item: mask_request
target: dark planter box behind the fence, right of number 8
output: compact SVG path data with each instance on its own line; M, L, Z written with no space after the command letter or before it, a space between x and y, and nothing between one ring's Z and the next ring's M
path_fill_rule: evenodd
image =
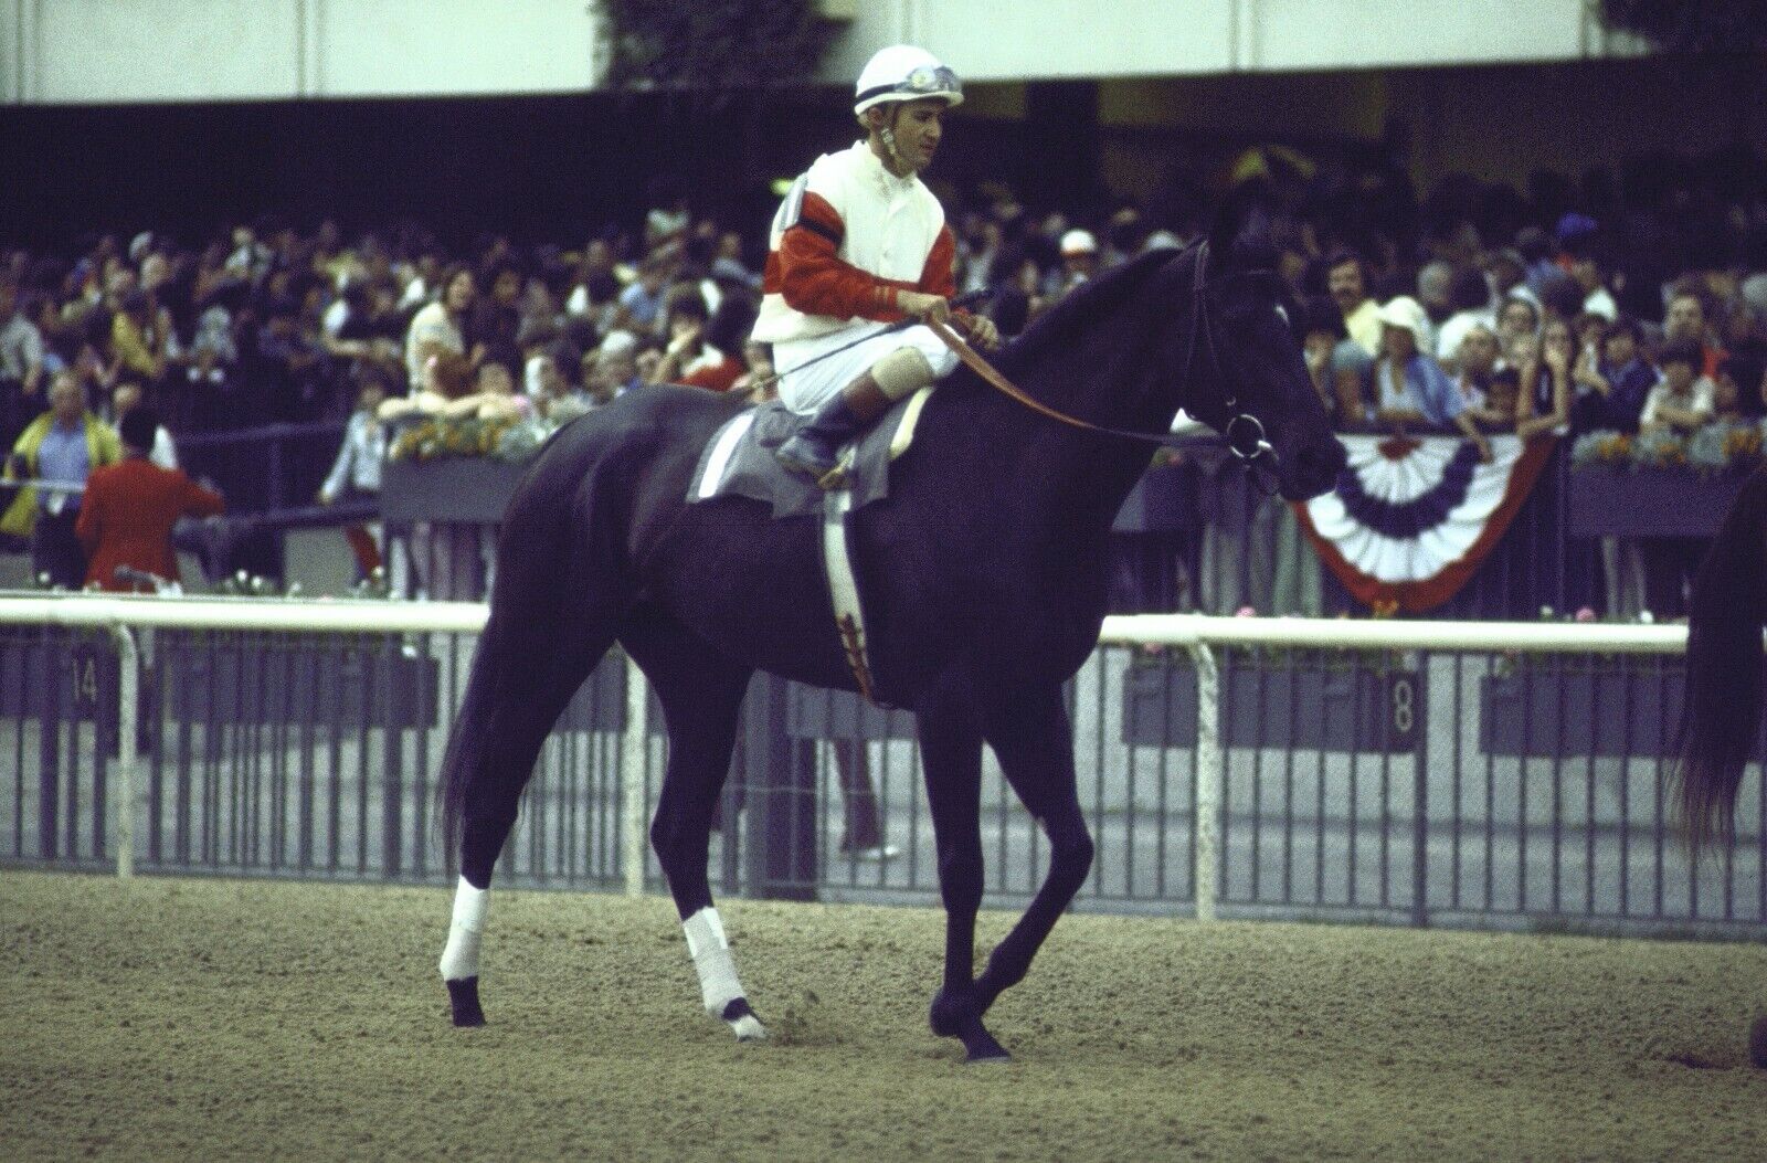
M1479 746L1505 756L1659 756L1675 748L1687 672L1528 666L1479 682Z

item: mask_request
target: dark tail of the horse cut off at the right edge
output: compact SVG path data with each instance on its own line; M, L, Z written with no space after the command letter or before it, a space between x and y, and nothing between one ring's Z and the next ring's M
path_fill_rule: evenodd
M1675 802L1693 859L1735 836L1737 787L1762 719L1762 622L1767 620L1767 472L1725 516L1693 582L1687 691Z

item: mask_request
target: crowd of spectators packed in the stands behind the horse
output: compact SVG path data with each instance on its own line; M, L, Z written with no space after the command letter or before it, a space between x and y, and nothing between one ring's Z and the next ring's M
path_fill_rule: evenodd
M1336 422L1458 431L1486 451L1498 431L1687 431L1767 414L1767 187L1737 170L1537 175L1528 196L1456 177L1426 200L1396 166L1237 173L1272 214ZM1060 210L998 184L942 193L958 286L1005 336L1205 219L1194 198ZM55 382L106 422L145 399L168 437L343 422L364 392L385 401L383 421L558 421L663 380L765 394L769 355L747 343L760 226L682 200L629 233L537 246L449 249L410 224L346 237L334 221L265 217L207 239L0 249L0 438L11 447L48 410ZM359 452L378 438L352 437ZM371 472L352 474L350 488L371 488ZM322 500L343 490L329 481Z

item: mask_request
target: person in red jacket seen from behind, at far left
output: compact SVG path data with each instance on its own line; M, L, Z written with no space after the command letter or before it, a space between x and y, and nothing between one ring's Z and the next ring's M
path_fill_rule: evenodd
M106 590L133 592L150 587L118 580L117 567L127 566L177 582L173 523L180 516L216 516L223 502L182 470L161 468L148 460L159 429L159 417L152 408L131 408L118 428L124 460L87 477L87 498L80 507L76 532L92 562L87 567L87 585L97 582Z

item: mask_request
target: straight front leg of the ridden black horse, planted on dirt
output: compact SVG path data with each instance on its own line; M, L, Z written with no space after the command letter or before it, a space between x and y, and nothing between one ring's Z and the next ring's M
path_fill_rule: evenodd
M945 903L945 983L933 995L931 1025L956 1038L970 1062L1007 1052L982 1027L975 997L975 912L982 903L982 732L967 680L947 679L919 705L921 765L938 847Z

